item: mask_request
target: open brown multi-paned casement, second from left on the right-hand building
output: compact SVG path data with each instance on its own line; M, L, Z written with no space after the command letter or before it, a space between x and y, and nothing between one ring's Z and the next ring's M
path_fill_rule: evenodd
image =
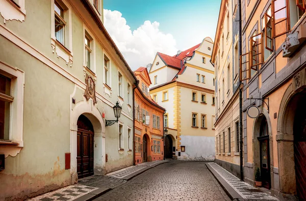
M250 68L258 70L258 65L264 61L263 33L256 34L250 38Z

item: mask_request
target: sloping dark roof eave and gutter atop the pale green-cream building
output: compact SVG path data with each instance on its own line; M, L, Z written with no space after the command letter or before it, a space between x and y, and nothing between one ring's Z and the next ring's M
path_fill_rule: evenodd
M93 18L93 20L96 22L98 28L102 31L102 33L105 35L106 39L111 43L112 47L115 49L117 55L119 56L119 58L122 60L123 64L125 65L125 67L127 68L127 70L130 71L132 77L135 79L135 83L137 82L137 78L135 76L135 74L133 73L132 69L130 68L129 64L127 64L127 62L125 61L123 55L121 54L121 52L119 51L117 45L115 44L115 42L113 41L112 37L109 35L109 33L107 32L107 30L104 27L104 24L102 23L100 17L96 14L96 12L94 11L93 6L91 5L91 3L89 2L89 0L80 0L82 2L82 4L84 5L84 7L86 8L86 10L89 12L89 14L91 15L91 17Z

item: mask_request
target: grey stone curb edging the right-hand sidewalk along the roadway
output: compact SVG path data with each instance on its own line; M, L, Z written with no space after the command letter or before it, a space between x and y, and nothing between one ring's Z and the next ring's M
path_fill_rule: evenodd
M224 191L227 193L227 195L232 199L232 200L244 200L241 195L232 187L230 184L228 184L221 176L214 170L209 163L205 164L209 171L214 175L216 180L219 182L219 184L222 186Z

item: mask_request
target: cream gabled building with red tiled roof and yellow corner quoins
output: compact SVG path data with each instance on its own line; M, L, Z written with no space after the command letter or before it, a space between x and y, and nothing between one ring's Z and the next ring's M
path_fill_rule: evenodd
M166 109L165 157L214 159L213 41L205 38L175 56L157 53L149 71L150 95Z

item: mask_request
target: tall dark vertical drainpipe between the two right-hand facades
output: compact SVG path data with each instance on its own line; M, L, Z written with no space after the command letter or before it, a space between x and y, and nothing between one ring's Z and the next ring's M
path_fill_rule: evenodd
M241 0L238 0L238 10L239 10L239 56L242 55L242 18L241 18ZM240 58L240 57L239 57ZM240 66L241 68L242 66ZM240 73L239 73L239 138L240 138L240 180L243 181L243 156L242 156L242 90L243 83L240 82Z

